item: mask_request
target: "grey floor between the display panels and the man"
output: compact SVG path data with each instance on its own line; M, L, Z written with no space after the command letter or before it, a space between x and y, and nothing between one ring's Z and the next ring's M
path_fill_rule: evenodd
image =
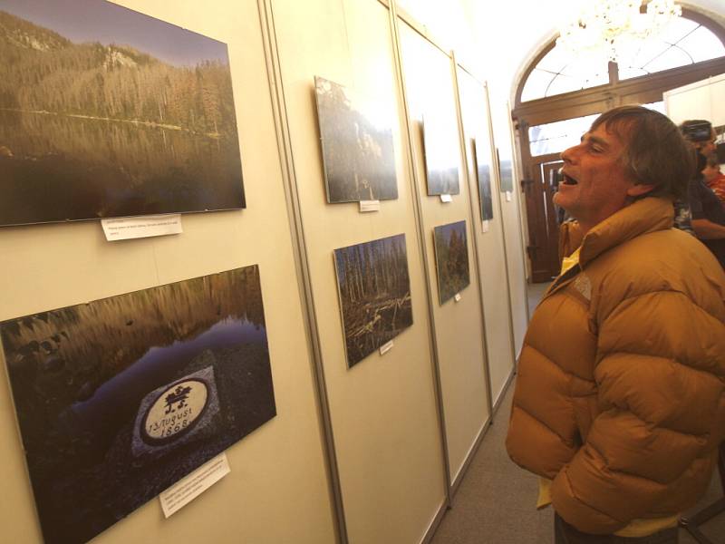
M529 306L536 306L546 287L533 286ZM553 511L535 508L536 476L510 461L504 447L513 388L511 384L504 394L431 544L553 544ZM713 477L707 494L691 511L701 510L721 496L720 481ZM701 530L714 544L725 544L725 513ZM680 544L696 542L680 529Z

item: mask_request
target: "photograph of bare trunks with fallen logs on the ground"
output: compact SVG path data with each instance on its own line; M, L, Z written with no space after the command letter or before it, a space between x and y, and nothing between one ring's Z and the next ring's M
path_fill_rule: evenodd
M413 324L405 235L334 250L347 365Z

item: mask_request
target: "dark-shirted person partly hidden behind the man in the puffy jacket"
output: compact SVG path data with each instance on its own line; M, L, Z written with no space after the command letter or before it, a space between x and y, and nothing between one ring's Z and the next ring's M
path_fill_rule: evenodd
M707 162L705 157L715 151L715 131L710 121L703 119L684 121L680 130L685 140L697 151L697 165L691 173L688 186L692 230L718 258L720 266L725 268L725 209L702 176Z

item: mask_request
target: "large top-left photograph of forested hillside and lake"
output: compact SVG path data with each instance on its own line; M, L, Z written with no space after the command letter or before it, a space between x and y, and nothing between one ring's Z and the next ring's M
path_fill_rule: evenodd
M0 226L244 207L226 44L103 0L0 0Z

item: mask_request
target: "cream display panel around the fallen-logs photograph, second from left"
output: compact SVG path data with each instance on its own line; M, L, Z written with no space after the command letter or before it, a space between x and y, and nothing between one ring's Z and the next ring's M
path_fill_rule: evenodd
M370 0L279 0L273 11L347 538L419 542L446 499L446 481L389 13ZM327 203L315 76L391 115L399 194L375 213ZM391 351L348 368L333 250L399 234L413 324Z

